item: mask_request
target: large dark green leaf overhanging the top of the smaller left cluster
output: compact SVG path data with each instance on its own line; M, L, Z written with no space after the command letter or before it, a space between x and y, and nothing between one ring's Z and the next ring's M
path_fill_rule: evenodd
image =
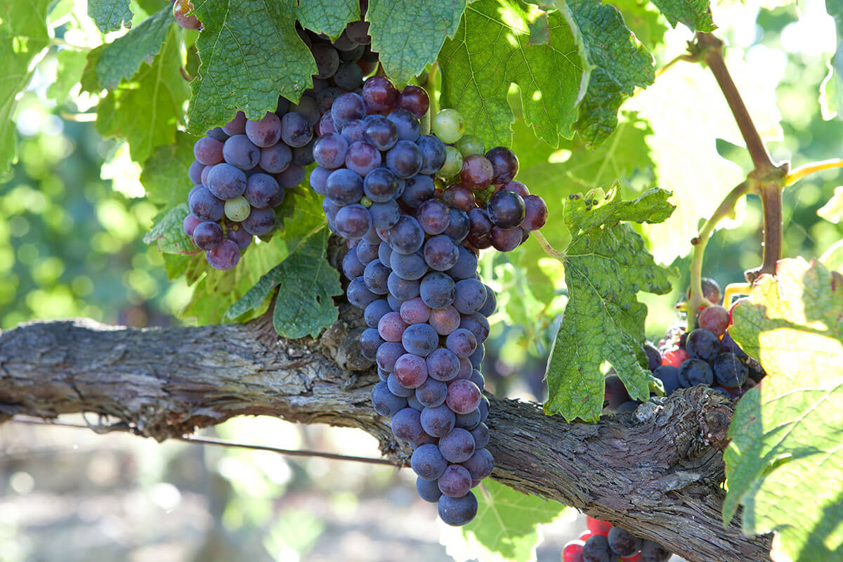
M200 0L194 6L204 26L188 110L194 134L224 125L237 110L261 119L276 110L278 96L298 102L313 84L316 62L296 33L292 5Z

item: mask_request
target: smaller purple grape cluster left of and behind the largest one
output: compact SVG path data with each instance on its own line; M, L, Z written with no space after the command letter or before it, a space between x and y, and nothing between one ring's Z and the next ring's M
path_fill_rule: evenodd
M365 32L354 31L359 24L349 25L351 36L368 42ZM323 111L346 91L360 88L364 70L371 71L368 45L353 42L347 31L331 44L299 29L319 70L314 88L298 104L279 98L277 109L260 120L238 111L225 126L196 141L189 170L195 186L188 195L191 212L184 229L214 269L233 269L253 236L269 236L277 227L275 209L285 190L300 185L305 167L314 162L320 128L332 129Z

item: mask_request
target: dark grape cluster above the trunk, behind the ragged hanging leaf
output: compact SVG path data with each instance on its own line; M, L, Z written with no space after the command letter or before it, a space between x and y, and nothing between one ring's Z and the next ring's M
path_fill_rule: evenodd
M722 292L717 281L703 278L702 288L706 300L720 302ZM679 388L705 384L737 399L760 383L765 376L764 369L729 335L732 308L734 304L728 309L710 304L697 312L696 329L687 332L684 327L676 327L668 330L658 348L650 343L644 345L649 368L662 381L665 395ZM608 409L624 412L636 409L640 402L630 399L617 375L609 374L604 404Z

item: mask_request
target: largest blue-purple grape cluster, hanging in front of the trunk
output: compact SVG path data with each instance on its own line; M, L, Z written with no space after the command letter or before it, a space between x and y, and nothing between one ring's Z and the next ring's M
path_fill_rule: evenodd
M414 449L421 498L463 525L477 511L470 489L493 468L479 369L497 298L477 275L478 251L515 248L547 208L513 180L515 154L485 153L456 111L422 134L429 104L423 88L398 91L380 76L337 96L319 120L310 186L325 195L331 231L349 240L342 270L368 325L362 355L381 379L374 409Z

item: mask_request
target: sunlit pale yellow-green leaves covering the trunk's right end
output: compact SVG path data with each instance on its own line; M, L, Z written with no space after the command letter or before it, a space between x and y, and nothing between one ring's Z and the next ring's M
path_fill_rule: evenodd
M729 334L767 376L729 426L724 521L740 504L744 533L780 533L774 559L840 559L843 278L817 261L781 260L735 305L733 322Z

